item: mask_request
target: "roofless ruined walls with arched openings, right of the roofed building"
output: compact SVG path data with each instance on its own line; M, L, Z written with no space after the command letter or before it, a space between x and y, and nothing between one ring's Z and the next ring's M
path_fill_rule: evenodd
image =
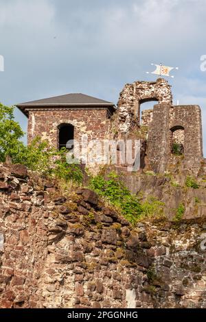
M140 105L157 101L150 111L146 154L149 169L163 173L171 162L171 129L184 131L183 166L198 173L203 160L201 108L196 105L173 106L171 86L165 79L156 82L126 84L120 92L117 108L119 137L133 136L140 128Z

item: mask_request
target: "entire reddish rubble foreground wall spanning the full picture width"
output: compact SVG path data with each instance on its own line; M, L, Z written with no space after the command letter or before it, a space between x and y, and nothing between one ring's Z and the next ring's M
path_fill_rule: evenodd
M91 190L1 165L1 308L205 308L205 223L134 230Z

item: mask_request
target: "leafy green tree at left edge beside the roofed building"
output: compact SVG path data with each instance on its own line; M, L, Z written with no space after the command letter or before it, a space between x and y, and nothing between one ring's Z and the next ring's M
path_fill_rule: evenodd
M23 135L21 126L14 121L14 107L0 103L0 162L4 162L7 156L10 156L13 162L16 161L16 157L24 149L20 140Z

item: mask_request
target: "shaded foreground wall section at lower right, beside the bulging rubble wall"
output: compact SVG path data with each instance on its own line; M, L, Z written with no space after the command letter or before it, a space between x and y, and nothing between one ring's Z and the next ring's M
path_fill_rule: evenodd
M206 308L205 223L196 220L139 227L152 245L146 251L153 264L144 288L154 307Z

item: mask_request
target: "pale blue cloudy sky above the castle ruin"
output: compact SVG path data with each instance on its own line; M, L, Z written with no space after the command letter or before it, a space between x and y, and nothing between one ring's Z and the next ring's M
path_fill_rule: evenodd
M124 84L157 78L151 63L179 66L165 78L174 105L201 106L206 155L205 16L206 0L0 0L0 101L82 92L117 103Z

